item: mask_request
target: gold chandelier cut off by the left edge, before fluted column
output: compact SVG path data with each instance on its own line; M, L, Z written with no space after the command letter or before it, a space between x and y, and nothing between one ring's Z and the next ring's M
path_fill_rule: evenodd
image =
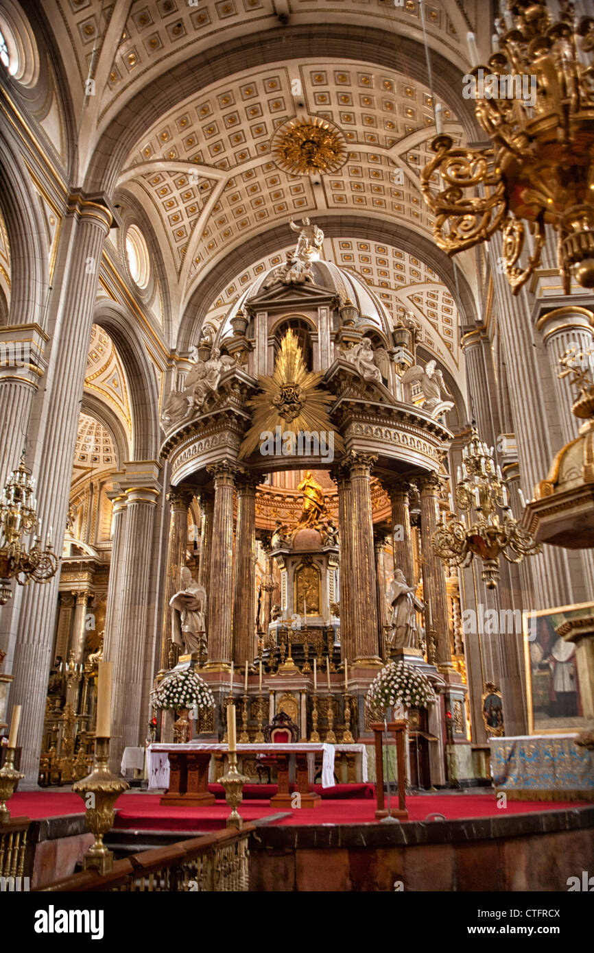
M41 521L37 518L37 500L33 497L35 481L21 456L16 471L9 480L0 498L0 605L6 605L12 592L10 579L16 578L19 585L33 582L49 582L58 568L58 560L51 552L51 527L46 548L41 549ZM24 537L34 532L30 549Z

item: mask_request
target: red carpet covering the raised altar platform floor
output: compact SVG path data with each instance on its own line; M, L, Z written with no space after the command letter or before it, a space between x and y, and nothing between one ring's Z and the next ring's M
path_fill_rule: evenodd
M256 785L254 785L256 786ZM264 788L267 785L257 785ZM341 785L346 786L346 785ZM373 785L357 785L371 788ZM214 785L218 788L220 785ZM326 789L326 790L332 790ZM221 801L212 807L162 807L160 795L137 792L123 794L115 803L115 827L136 830L218 830L225 826L229 807ZM576 807L584 801L507 801L505 813L523 814L530 811L563 810ZM411 821L425 821L430 814L443 814L448 821L461 818L501 817L502 810L492 794L428 794L406 799ZM246 821L256 821L279 813L289 817L275 821L279 824L345 824L374 823L375 800L362 798L324 799L318 807L281 812L268 801L244 801L239 813ZM13 818L31 819L82 814L84 804L76 794L63 791L23 791L10 798Z

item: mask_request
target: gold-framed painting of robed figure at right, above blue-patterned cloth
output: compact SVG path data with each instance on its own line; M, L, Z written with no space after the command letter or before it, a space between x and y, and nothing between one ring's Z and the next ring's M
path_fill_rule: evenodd
M571 619L594 614L594 602L522 613L528 731L531 735L582 731L584 717L575 642L563 639Z

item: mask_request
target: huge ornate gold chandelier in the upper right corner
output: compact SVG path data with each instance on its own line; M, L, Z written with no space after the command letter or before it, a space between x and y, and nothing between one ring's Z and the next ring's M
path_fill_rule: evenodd
M453 255L501 230L514 294L541 261L546 225L558 233L564 293L572 274L594 287L594 18L578 22L572 3L562 7L553 20L544 0L507 0L499 50L468 74L492 145L452 148L439 124L421 173L440 248Z

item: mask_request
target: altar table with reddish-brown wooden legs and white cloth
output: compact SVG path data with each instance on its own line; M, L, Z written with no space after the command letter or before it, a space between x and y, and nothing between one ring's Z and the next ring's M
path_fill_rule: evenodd
M334 781L335 750L359 754L362 760L361 774L367 780L367 749L364 744L237 744L237 754L275 755L278 763L278 791L271 798L273 806L291 806L293 796L289 791L289 758L295 757L297 768L297 791L302 807L315 807L319 795L310 791L313 781L314 756L322 753L322 787L332 787ZM149 788L168 788L161 801L166 804L213 804L215 795L208 790L208 772L211 756L216 752L228 753L227 744L215 741L190 741L187 744L154 743L148 748Z

